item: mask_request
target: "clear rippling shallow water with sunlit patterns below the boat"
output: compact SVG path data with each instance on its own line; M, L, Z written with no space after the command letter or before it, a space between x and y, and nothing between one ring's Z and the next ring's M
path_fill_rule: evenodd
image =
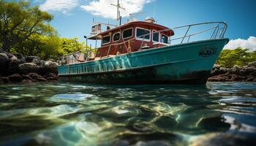
M0 145L254 145L256 84L0 85Z

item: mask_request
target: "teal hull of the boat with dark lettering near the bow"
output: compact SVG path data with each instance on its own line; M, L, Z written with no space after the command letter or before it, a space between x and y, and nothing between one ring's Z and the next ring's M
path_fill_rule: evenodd
M228 39L210 39L59 66L59 80L102 84L205 84Z

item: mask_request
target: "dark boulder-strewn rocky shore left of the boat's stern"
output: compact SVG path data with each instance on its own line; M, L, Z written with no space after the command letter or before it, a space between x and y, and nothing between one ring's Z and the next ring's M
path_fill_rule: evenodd
M42 61L37 56L24 57L7 53L0 48L0 83L7 82L56 82L58 64Z

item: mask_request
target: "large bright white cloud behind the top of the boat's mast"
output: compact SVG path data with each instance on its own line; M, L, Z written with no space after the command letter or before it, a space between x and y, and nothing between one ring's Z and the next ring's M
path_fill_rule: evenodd
M153 0L121 0L121 7L125 9L120 9L121 16L127 17L130 13L140 12L144 4L150 3L151 1ZM94 0L89 2L89 4L82 5L81 8L90 12L92 15L116 19L116 7L110 4L116 4L116 0Z

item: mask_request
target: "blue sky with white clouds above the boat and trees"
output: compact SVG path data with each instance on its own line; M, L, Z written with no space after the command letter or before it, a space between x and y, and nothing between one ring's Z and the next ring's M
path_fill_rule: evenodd
M116 24L116 0L29 0L54 16L50 22L60 37L89 36L94 21ZM123 22L129 13L143 12L138 20L154 17L157 23L173 28L190 23L224 21L226 48L256 50L256 0L121 0Z

